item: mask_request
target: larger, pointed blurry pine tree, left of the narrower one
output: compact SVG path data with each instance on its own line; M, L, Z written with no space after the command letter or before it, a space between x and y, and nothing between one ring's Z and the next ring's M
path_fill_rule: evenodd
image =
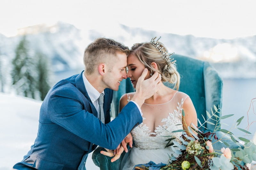
M35 99L35 61L29 56L28 41L25 36L15 49L15 57L12 60L12 64L12 85L14 85L17 93Z

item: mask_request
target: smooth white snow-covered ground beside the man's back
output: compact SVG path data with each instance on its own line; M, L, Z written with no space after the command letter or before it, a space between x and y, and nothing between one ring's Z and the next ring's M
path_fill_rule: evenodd
M34 143L42 101L0 93L0 170L11 170ZM89 154L86 168L99 170Z

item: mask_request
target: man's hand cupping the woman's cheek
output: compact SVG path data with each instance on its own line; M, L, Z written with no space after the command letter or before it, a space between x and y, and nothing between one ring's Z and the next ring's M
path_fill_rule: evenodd
M150 78L145 80L148 69L144 69L140 78L137 80L136 92L132 98L140 107L144 101L157 92L160 87L161 75L155 72Z

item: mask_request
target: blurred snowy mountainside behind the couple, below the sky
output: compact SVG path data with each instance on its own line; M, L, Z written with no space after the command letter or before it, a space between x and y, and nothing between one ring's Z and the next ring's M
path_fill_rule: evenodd
M19 35L15 37L0 35L2 60L10 61L14 57L14 49L23 35L27 36L32 51L41 51L51 60L52 71L56 75L62 71L79 73L83 69L84 49L98 37L112 38L131 47L136 42L162 36L161 41L170 52L207 60L223 78L256 78L256 35L213 39L160 33L120 24L112 25L111 28L78 30L73 25L58 22L52 26L42 24L20 29ZM10 62L6 64L9 66Z

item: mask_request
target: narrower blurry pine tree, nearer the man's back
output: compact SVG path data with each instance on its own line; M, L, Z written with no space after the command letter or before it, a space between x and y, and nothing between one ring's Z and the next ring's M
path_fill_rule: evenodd
M49 64L47 57L42 54L41 52L36 53L36 59L37 59L37 86L36 88L40 92L40 98L41 100L44 100L47 92L50 89L50 74L49 74Z

